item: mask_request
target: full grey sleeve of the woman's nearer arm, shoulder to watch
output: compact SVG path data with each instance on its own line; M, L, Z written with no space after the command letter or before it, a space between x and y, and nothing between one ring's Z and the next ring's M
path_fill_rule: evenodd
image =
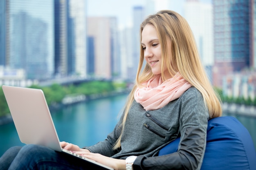
M209 112L198 91L181 96L180 134L177 152L157 156L137 157L134 170L200 170L204 157Z

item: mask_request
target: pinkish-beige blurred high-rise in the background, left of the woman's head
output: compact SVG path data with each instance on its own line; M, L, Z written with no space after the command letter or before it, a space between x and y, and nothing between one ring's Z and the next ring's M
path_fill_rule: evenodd
M117 18L88 17L88 59L90 75L111 79L120 73ZM93 44L92 44L93 43ZM93 71L94 70L94 71ZM114 76L115 75L115 76Z

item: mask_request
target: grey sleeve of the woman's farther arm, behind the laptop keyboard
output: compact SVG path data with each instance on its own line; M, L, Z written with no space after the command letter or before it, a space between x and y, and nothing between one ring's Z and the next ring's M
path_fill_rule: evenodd
M101 155L105 155L108 157L111 157L115 155L117 152L119 152L119 150L113 150L112 147L114 146L115 142L121 134L122 118L123 116L118 121L114 130L108 134L107 138L104 141L100 141L93 146L83 147L83 149L88 149L92 153L100 153Z

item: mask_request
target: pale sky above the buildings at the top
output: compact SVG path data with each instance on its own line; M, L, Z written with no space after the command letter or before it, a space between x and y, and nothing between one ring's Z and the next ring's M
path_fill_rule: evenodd
M155 11L165 9L168 2L173 5L173 11L182 15L182 6L186 0L87 0L88 16L117 17L119 26L129 26L132 22L132 8L145 6L146 3L155 1ZM198 0L203 3L211 3L212 0Z

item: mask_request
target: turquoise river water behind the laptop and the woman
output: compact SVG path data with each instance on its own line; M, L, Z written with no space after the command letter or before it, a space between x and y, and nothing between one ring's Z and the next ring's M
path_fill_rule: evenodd
M115 127L126 97L127 95L120 95L95 99L52 111L52 119L60 141L83 147L104 140ZM236 117L247 128L256 146L256 117L227 113L225 115ZM20 142L14 124L0 126L0 155L9 147L17 145L24 144Z

